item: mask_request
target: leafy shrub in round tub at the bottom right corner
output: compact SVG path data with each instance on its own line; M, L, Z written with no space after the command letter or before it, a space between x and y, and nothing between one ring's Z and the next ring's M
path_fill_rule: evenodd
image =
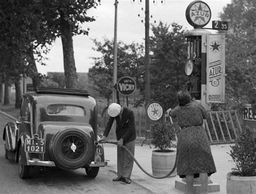
M246 126L234 146L230 146L230 156L235 168L227 174L227 194L256 193L255 138Z

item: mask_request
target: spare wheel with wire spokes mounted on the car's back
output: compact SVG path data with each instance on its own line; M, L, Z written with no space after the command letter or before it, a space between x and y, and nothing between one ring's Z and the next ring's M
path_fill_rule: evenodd
M92 156L92 145L93 141L86 132L68 128L53 136L50 155L59 168L82 168Z

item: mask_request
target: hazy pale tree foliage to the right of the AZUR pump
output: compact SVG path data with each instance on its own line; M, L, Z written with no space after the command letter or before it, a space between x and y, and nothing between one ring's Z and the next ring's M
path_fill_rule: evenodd
M228 21L226 34L226 107L242 109L255 103L256 2L232 0L220 14ZM255 85L254 85L255 87Z

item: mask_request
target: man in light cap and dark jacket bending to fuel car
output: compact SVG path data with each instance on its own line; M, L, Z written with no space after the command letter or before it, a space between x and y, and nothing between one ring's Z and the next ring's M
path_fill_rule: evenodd
M111 130L113 121L116 120L117 135L117 177L113 181L123 181L131 183L131 173L133 168L132 156L124 149L124 145L134 155L136 129L134 123L134 113L128 107L112 103L107 109L110 118L105 127L101 142L104 142Z

